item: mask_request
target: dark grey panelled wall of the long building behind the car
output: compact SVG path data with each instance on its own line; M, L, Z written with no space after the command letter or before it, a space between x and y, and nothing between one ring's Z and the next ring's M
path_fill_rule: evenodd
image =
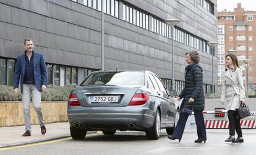
M43 53L48 63L100 69L101 12L79 2L0 0L0 57L17 57L23 51L23 39L32 38L35 49ZM216 0L211 2L214 15L193 0L127 0L120 4L129 4L161 20L181 19L178 28L205 41L216 41ZM170 79L171 39L124 21L119 13L119 18L105 14L105 69L150 70ZM174 41L175 80L184 80L184 54L188 50L196 49ZM211 85L211 55L198 52L203 83ZM215 85L216 70L214 56Z

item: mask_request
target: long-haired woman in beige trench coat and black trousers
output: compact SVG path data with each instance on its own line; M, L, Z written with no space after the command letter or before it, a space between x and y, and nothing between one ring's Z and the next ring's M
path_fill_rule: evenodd
M243 143L240 119L236 117L236 109L240 104L245 102L245 91L242 78L242 70L239 68L237 57L234 54L226 56L226 69L223 75L223 83L221 88L221 104L226 104L228 109L229 120L229 138L226 142ZM237 139L235 138L235 132Z

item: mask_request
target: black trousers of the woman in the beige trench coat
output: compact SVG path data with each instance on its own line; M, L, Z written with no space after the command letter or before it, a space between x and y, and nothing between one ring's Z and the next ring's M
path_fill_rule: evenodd
M237 136L242 137L242 130L240 126L240 120L236 117L236 111L228 111L228 120L229 120L229 135L234 136L234 131L236 130Z

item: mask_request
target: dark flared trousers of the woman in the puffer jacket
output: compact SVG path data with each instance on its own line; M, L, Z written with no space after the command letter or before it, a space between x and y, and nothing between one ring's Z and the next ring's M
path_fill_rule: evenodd
M206 136L206 130L205 130L205 120L203 119L202 112L194 112L195 114L195 124L197 125L197 136L200 140L207 140ZM177 122L176 128L174 129L173 135L175 138L178 138L181 140L182 135L184 133L184 129L187 122L187 117L189 117L189 114L185 112L181 112L179 114L179 120Z

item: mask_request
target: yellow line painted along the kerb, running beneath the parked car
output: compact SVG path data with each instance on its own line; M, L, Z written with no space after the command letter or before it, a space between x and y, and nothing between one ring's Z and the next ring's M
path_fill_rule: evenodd
M95 136L98 134L90 134L87 137L90 136ZM0 151L5 151L5 150L9 150L9 149L18 149L18 148L27 148L27 147L33 147L33 146L39 146L39 145L48 145L50 143L58 143L60 141L65 141L65 140L72 140L71 137L67 137L67 138L61 138L59 140L50 140L50 141L42 141L42 142L36 142L36 143L32 143L32 144L27 144L27 145L19 145L19 146L11 146L11 147L7 147L7 148L0 148Z

